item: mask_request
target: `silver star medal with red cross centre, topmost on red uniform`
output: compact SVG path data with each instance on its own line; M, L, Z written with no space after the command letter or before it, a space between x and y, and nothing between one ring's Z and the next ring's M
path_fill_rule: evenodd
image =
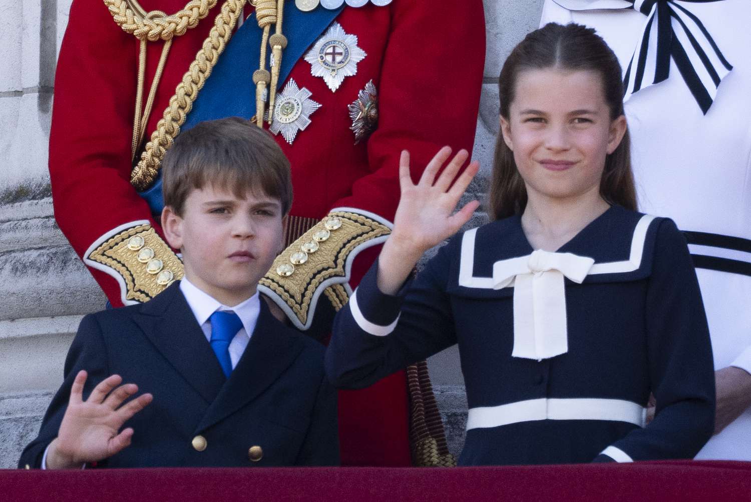
M323 77L328 88L336 91L344 77L357 74L357 63L365 56L365 51L357 47L357 36L345 33L342 25L334 21L305 55L305 60L310 63L313 77Z

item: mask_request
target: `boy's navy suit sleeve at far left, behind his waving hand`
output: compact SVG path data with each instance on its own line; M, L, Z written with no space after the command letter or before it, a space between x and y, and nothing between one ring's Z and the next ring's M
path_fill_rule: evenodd
M86 399L94 387L109 376L107 348L101 335L99 323L92 314L83 317L80 326L78 326L76 337L68 350L68 356L65 358L62 386L53 397L50 407L47 408L47 413L44 414L38 437L29 443L21 453L18 467L23 468L28 464L29 467L35 469L41 468L44 450L57 437L62 417L65 415L65 410L68 409L73 380L82 369L85 369L88 373L86 385L83 387L83 398ZM101 465L102 462L98 462L98 464Z

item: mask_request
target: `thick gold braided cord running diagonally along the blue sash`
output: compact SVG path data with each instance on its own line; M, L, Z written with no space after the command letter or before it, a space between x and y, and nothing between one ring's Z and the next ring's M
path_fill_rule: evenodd
M131 172L131 185L138 191L144 191L152 185L161 166L164 153L172 146L172 142L179 134L180 126L185 123L198 92L209 78L219 55L232 36L237 18L243 14L246 0L226 0L222 10L216 16L214 26L204 41L203 47L195 56L188 71L177 84L175 94L170 98L170 104L164 110L162 118L156 125L156 131L151 135L146 149L141 154L140 161Z

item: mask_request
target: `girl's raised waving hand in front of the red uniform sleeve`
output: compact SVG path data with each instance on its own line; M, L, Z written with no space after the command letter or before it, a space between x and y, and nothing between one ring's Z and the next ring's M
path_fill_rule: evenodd
M422 254L457 233L480 205L477 200L472 200L453 214L460 197L477 174L479 163L471 162L454 181L469 157L466 150L460 150L436 179L436 174L450 156L451 148L444 146L440 149L415 185L409 174L409 152L402 152L399 163L402 195L394 215L394 230L379 257L378 286L383 293L397 293Z

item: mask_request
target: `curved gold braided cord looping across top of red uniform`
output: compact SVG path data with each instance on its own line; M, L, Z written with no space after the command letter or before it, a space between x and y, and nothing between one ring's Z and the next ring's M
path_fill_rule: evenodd
M162 11L147 13L137 0L104 0L115 23L139 40L167 41L184 35L207 17L216 0L191 0L179 12L167 15Z

